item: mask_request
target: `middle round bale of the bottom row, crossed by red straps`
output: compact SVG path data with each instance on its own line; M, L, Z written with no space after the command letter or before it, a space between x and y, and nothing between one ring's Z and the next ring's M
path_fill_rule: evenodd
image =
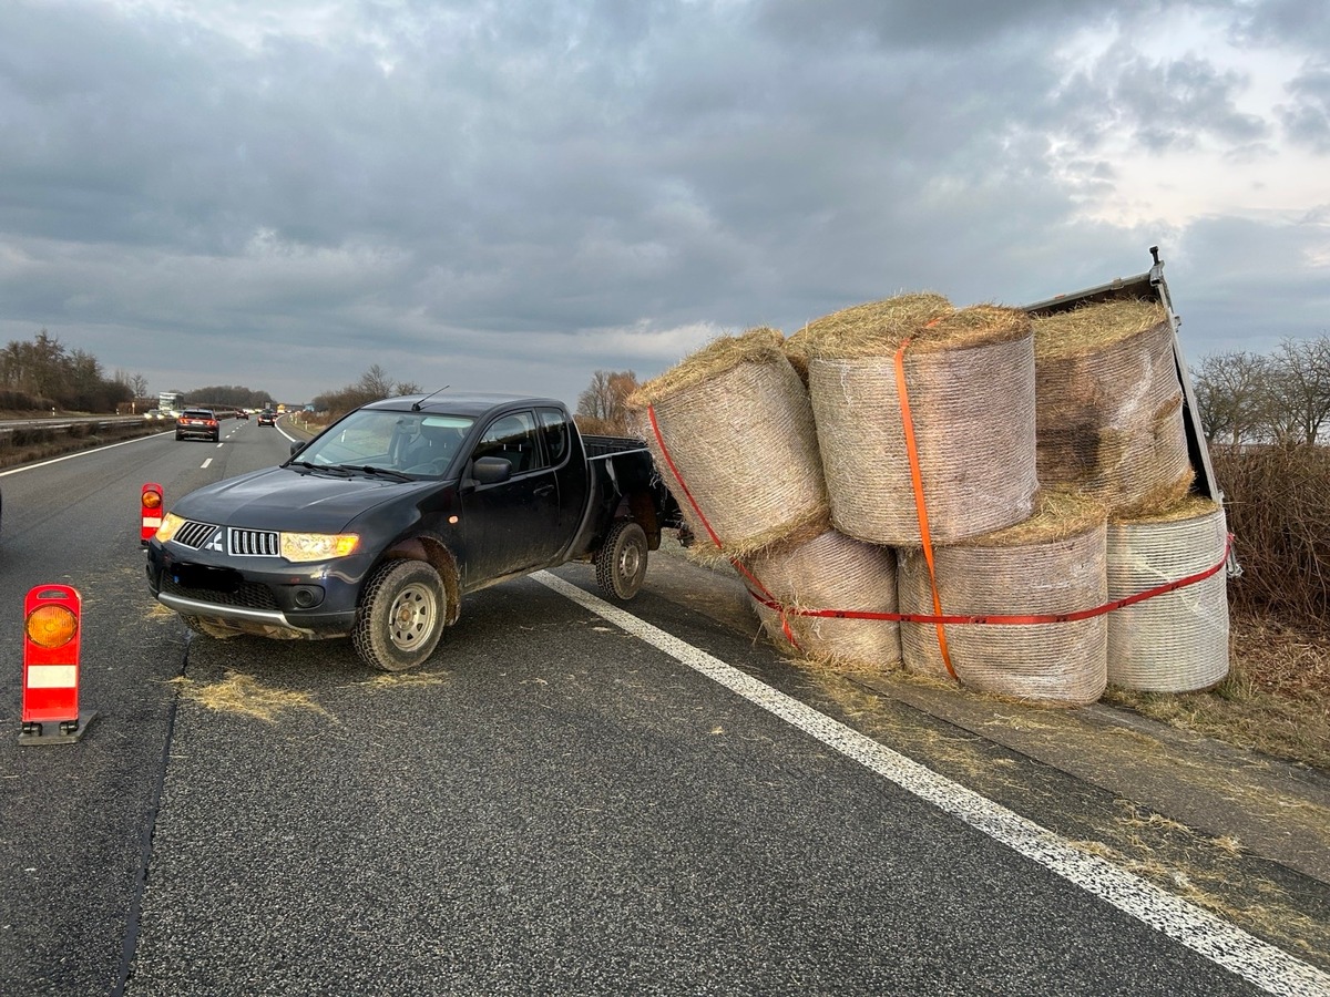
M1043 495L1035 516L984 537L936 548L943 615L1060 615L1108 602L1107 514L1097 502ZM922 550L899 553L900 611L934 615ZM1056 706L1092 703L1108 682L1108 618L1037 623L947 623L962 685ZM938 627L903 622L911 671L946 677Z

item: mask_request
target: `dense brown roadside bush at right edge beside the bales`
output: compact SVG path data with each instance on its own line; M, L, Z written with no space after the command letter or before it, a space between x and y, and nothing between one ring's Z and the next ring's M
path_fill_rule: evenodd
M1330 449L1216 447L1210 459L1242 565L1234 609L1330 635Z

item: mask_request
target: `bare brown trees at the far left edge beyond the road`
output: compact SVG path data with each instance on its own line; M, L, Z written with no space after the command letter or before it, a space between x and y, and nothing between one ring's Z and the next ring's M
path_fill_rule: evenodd
M12 340L0 351L0 408L114 412L144 388L142 376L117 371L108 378L96 356L66 350L47 330L32 342Z

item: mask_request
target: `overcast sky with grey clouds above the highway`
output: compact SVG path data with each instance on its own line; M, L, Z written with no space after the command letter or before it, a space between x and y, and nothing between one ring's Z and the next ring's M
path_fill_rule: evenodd
M0 0L0 344L575 404L900 291L1330 332L1323 0Z

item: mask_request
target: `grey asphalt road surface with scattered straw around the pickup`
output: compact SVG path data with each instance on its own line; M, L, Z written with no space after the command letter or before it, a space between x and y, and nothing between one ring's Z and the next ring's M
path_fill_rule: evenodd
M190 639L141 485L285 452L229 421L0 477L0 992L1330 993L1323 952L1085 848L1113 794L794 666L669 558L622 609L584 565L476 593L407 675ZM51 582L97 717L20 747Z

